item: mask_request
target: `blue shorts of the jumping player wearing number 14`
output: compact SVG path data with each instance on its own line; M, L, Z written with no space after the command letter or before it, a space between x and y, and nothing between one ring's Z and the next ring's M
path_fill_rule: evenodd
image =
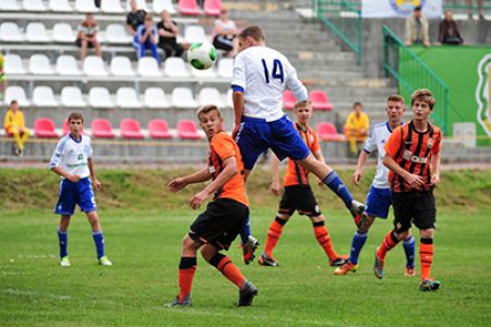
M254 168L259 156L267 148L271 148L279 160L287 157L303 160L310 154L294 123L286 116L271 122L260 118L242 117L236 143L239 145L247 170Z

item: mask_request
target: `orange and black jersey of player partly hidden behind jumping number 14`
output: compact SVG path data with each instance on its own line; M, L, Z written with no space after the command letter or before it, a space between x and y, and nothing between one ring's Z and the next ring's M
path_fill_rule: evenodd
M307 144L307 147L315 153L321 149L319 145L319 137L315 131L311 126L307 126L307 130L303 130L298 123L295 123L295 128L297 129L300 137ZM288 168L285 173L285 178L283 179L284 186L291 185L308 185L309 184L309 171L303 169L300 165L295 162L295 160L288 159Z

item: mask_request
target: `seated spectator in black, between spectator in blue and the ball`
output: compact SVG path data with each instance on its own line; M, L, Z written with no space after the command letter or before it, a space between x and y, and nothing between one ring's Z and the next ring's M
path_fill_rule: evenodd
M177 43L179 27L177 26L177 23L170 19L170 13L167 10L164 10L160 13L160 19L161 21L157 24L158 47L166 52L166 58L172 56L181 57L189 45Z

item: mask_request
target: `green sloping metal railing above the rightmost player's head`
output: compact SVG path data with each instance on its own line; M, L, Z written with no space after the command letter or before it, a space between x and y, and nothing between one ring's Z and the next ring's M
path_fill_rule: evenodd
M410 95L415 89L429 88L436 99L432 119L450 135L448 126L448 86L424 63L418 55L397 37L387 26L382 27L384 43L385 76L397 82L400 94Z

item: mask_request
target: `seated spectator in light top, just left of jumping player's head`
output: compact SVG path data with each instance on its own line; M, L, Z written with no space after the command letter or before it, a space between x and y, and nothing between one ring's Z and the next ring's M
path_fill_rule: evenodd
M227 51L227 57L237 53L238 44L236 36L239 34L236 22L227 19L227 10L221 9L219 19L215 21L213 28L213 45L215 48Z

